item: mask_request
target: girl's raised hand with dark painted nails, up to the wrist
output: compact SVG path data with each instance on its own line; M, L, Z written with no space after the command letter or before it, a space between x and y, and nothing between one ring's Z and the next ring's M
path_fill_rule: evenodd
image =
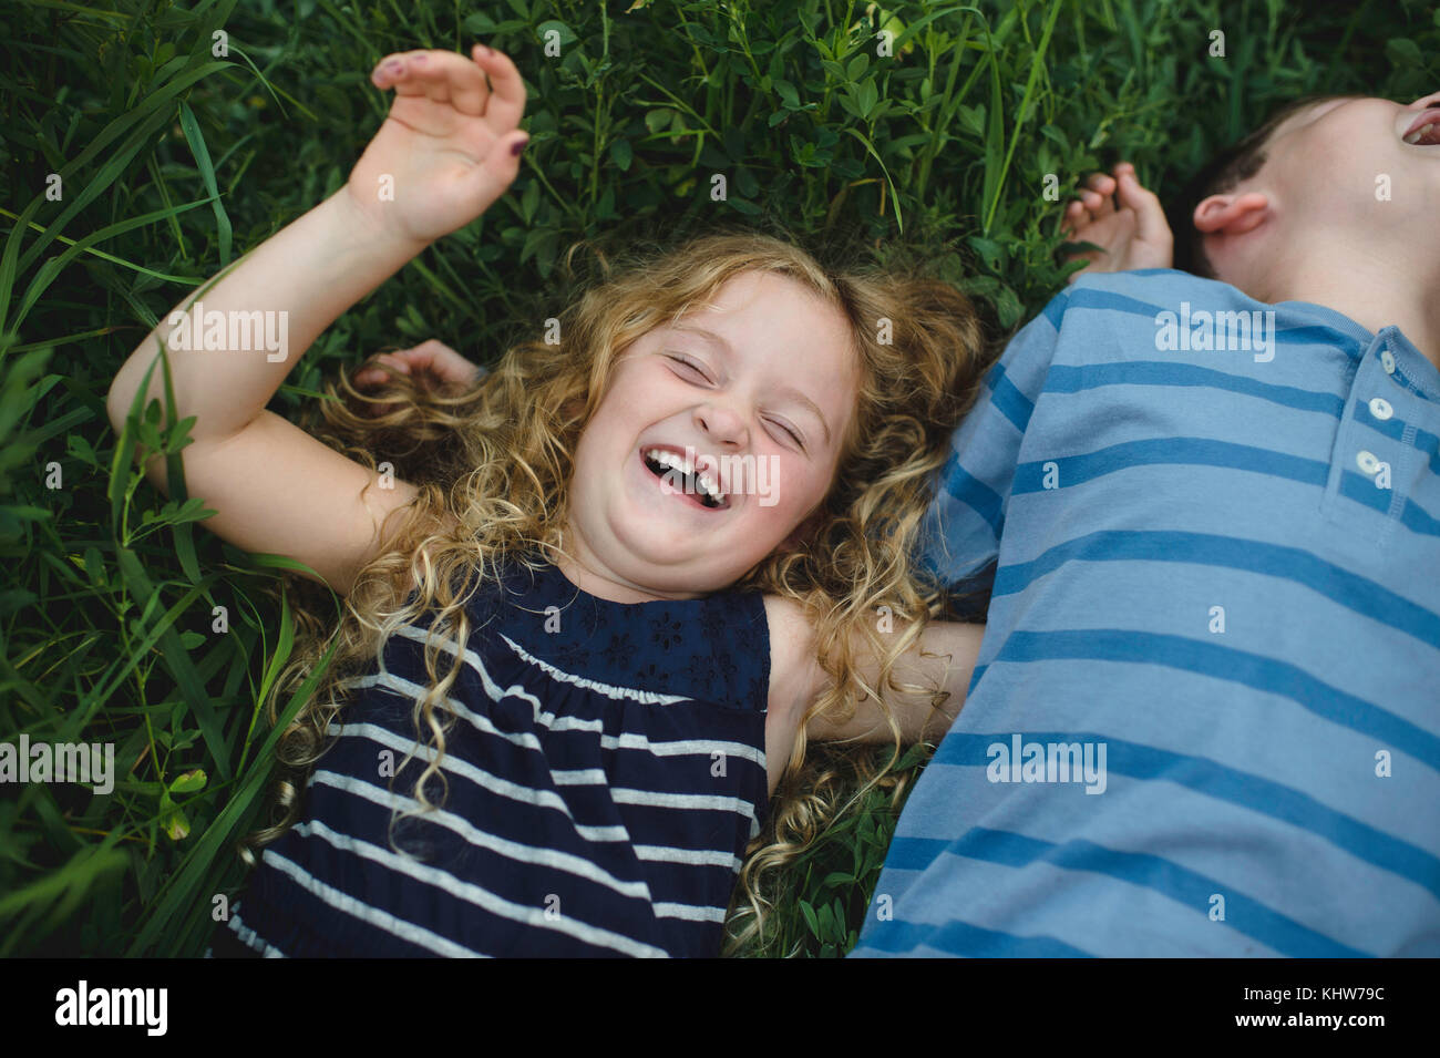
M428 243L464 227L520 171L530 138L518 128L520 72L482 45L472 56L400 52L370 73L377 88L395 88L395 102L346 187L366 216L406 240Z

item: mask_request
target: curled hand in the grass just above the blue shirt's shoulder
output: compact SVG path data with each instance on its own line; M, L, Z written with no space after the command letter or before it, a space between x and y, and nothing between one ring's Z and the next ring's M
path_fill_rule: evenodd
M1165 222L1165 210L1153 193L1140 187L1135 166L1122 161L1115 177L1096 173L1080 202L1066 207L1061 230L1074 242L1093 242L1103 249L1081 250L1068 256L1090 262L1068 278L1074 282L1086 272L1126 272L1132 268L1171 268L1175 238ZM1115 199L1119 199L1116 206Z

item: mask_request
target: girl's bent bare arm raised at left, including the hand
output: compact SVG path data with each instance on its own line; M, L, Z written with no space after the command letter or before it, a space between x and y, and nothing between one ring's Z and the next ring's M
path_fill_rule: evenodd
M164 337L177 415L196 416L181 452L186 487L217 511L204 525L242 550L305 563L341 594L379 546L386 517L416 489L380 487L265 404L341 312L504 193L527 138L517 128L520 73L491 49L477 45L474 62L436 50L389 56L372 81L393 86L396 99L348 183L194 304L177 305L120 369L107 402L120 432ZM163 393L157 366L145 403ZM164 459L141 458L164 491Z

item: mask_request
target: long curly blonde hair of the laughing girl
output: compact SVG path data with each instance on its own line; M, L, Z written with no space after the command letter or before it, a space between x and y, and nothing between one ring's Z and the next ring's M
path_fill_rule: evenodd
M572 246L567 266L577 248ZM325 423L312 433L372 469L373 453L383 453L419 495L392 514L397 524L386 525L383 550L359 571L338 626L333 596L321 597L320 586L297 579L285 583L302 633L272 688L272 724L282 695L304 684L327 652L334 656L281 736L284 773L272 787L272 825L242 842L246 864L253 865L255 851L298 818L304 776L344 708L348 677L373 668L390 632L422 615L433 615L425 648L431 689L415 704L413 720L433 753L413 797L418 812L433 808L426 783L435 777L445 787L441 759L454 723L439 702L462 656L446 651L452 664L442 672L436 639L469 638L465 602L503 563L536 551L552 560L569 556L567 482L576 443L605 396L616 358L746 272L786 276L838 309L861 370L851 426L814 530L778 547L730 590L791 599L808 615L829 687L805 720L821 714L842 723L868 697L884 704L860 671L860 643L880 661L878 687L930 694L936 707L943 702L937 688L900 684L891 669L926 620L942 613L940 586L914 567L913 553L950 432L979 387L984 338L971 302L913 266L873 262L835 271L791 239L756 232L714 232L670 250L632 249L624 266L612 266L600 252L596 258L602 275L557 317L560 341L517 343L467 392L426 392L393 371L377 393L359 392L348 371L340 374L340 392L327 383L328 399L320 403ZM376 403L390 410L374 415ZM880 638L881 606L904 629L900 635ZM888 774L900 753L900 727L888 708L884 714L894 751L878 763L873 751L842 751L806 767L801 724L785 777L740 871L727 951L765 939L776 874L848 806L877 783L888 783L896 797L901 793L903 783ZM395 820L392 844L393 826Z

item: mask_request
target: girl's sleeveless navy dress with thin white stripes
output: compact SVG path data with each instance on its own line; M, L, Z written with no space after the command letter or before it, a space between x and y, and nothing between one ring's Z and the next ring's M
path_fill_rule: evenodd
M403 763L428 619L351 681L301 822L264 849L215 954L720 953L768 808L762 596L615 603L513 564L468 607L448 799L395 829L415 855L387 829L431 759Z

